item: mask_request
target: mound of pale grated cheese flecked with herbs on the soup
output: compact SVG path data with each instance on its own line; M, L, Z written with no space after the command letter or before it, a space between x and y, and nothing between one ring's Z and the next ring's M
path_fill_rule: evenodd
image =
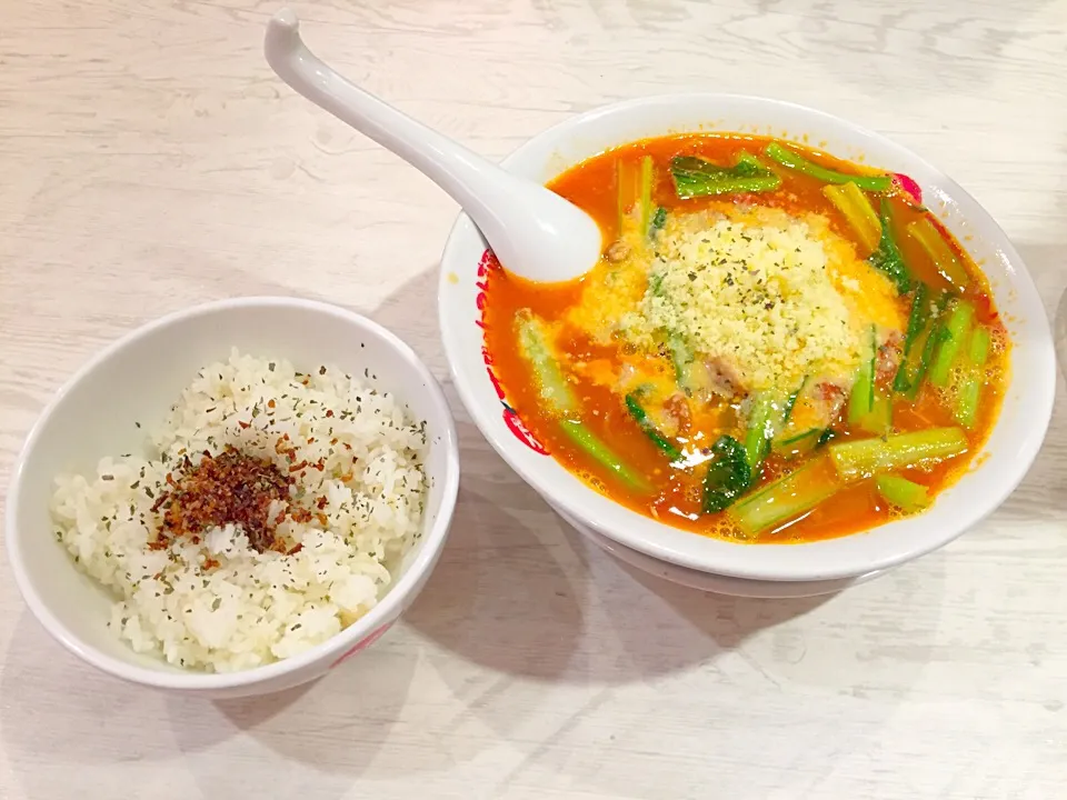
M815 224L822 230L767 208L671 216L624 328L636 340L672 331L750 391L815 376L847 381L871 320L854 313L844 284L852 279L831 268L822 240L832 233Z

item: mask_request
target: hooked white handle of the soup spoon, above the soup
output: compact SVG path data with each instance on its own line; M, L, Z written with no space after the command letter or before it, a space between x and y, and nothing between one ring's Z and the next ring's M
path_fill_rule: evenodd
M263 53L300 94L391 150L448 192L491 236L496 213L486 200L527 191L527 181L417 122L333 71L300 38L289 9L268 23Z

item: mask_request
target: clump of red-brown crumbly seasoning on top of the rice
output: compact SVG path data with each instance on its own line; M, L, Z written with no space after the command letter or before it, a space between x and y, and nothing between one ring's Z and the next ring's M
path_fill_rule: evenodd
M289 511L293 476L282 473L268 459L246 456L232 446L218 456L205 451L197 466L187 456L182 472L177 480L168 476L169 489L152 507L153 511L163 509L153 548L162 549L179 537L199 543L206 530L236 524L259 552L286 552L286 543L276 538L275 531ZM270 507L276 500L286 508L271 518Z

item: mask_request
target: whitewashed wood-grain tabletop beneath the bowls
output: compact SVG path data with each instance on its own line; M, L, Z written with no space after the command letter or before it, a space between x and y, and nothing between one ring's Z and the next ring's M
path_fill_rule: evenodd
M298 98L255 0L3 3L0 482L51 392L158 314L289 293L442 379L456 206ZM971 191L1049 310L1067 283L1064 0L309 0L323 58L492 158L678 90L795 100ZM0 581L0 797L1067 797L1067 413L953 546L832 598L739 600L586 544L449 389L463 482L426 592L318 684L211 703L52 642Z

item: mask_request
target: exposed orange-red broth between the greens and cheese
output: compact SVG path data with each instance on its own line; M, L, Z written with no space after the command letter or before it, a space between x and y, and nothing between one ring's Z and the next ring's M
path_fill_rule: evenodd
M664 206L668 211L698 211L710 200L679 200L675 193L669 173L670 159L675 156L699 156L722 164L734 163L741 150L758 152L770 139L748 136L685 136L649 139L601 153L568 170L550 184L559 194L589 212L600 224L605 241L614 241L618 236L617 173L619 160L630 162L636 170L646 156L655 163L654 204ZM810 149L790 146L800 150L809 160L831 169L848 173L868 172L864 168L831 158ZM787 212L824 213L832 230L856 242L855 233L840 213L824 197L821 181L807 176L781 170L781 188L775 192L735 196L737 200L781 208ZM719 198L721 200L721 198ZM905 226L928 213L914 207L899 193L890 198L895 217L897 242L907 260L913 274L926 281L933 289L948 288L947 282L937 272L927 253L911 237L906 236ZM974 302L976 321L990 327L994 352L990 354L989 374L1005 376L1007 370L1007 338L997 318L997 311L989 294L988 282L966 251L955 240L949 243L960 257L973 278L971 288L965 297ZM861 253L866 256L867 253ZM728 522L725 513L700 516L702 470L678 470L668 463L664 454L652 444L644 431L627 412L620 399L608 388L597 386L568 372L578 396L582 400L585 412L581 421L631 468L645 474L654 489L648 494L637 494L624 486L617 477L597 461L577 449L559 429L558 420L544 413L538 399L538 388L534 382L529 364L519 354L516 344L515 319L520 309L530 309L546 320L558 320L564 311L579 300L581 279L562 284L539 284L525 281L506 271L496 270L490 279L485 309L486 344L492 356L497 377L503 387L508 402L526 426L546 444L552 456L570 471L584 478L602 494L639 513L652 517L661 522L705 536L725 538L740 537ZM909 298L901 298L905 306L905 319L909 308ZM596 346L575 332L557 342L564 353L575 360L616 359L612 349ZM988 438L1003 399L1004 380L989 381L983 388L978 421L968 432L967 453L950 459L934 468L908 470L906 478L928 487L935 494L951 484L967 468L983 442ZM951 413L944 408L937 394L924 387L915 403L897 400L893 409L894 430L907 432L938 426L955 424ZM864 432L852 432L844 418L834 424L840 439L852 436L869 438ZM760 483L795 470L797 461L785 462L780 457L771 456L762 466ZM895 511L878 496L872 481L861 481L847 486L806 517L780 527L777 531L764 533L760 541L799 542L829 539L867 530L888 521ZM692 519L691 517L696 517Z

